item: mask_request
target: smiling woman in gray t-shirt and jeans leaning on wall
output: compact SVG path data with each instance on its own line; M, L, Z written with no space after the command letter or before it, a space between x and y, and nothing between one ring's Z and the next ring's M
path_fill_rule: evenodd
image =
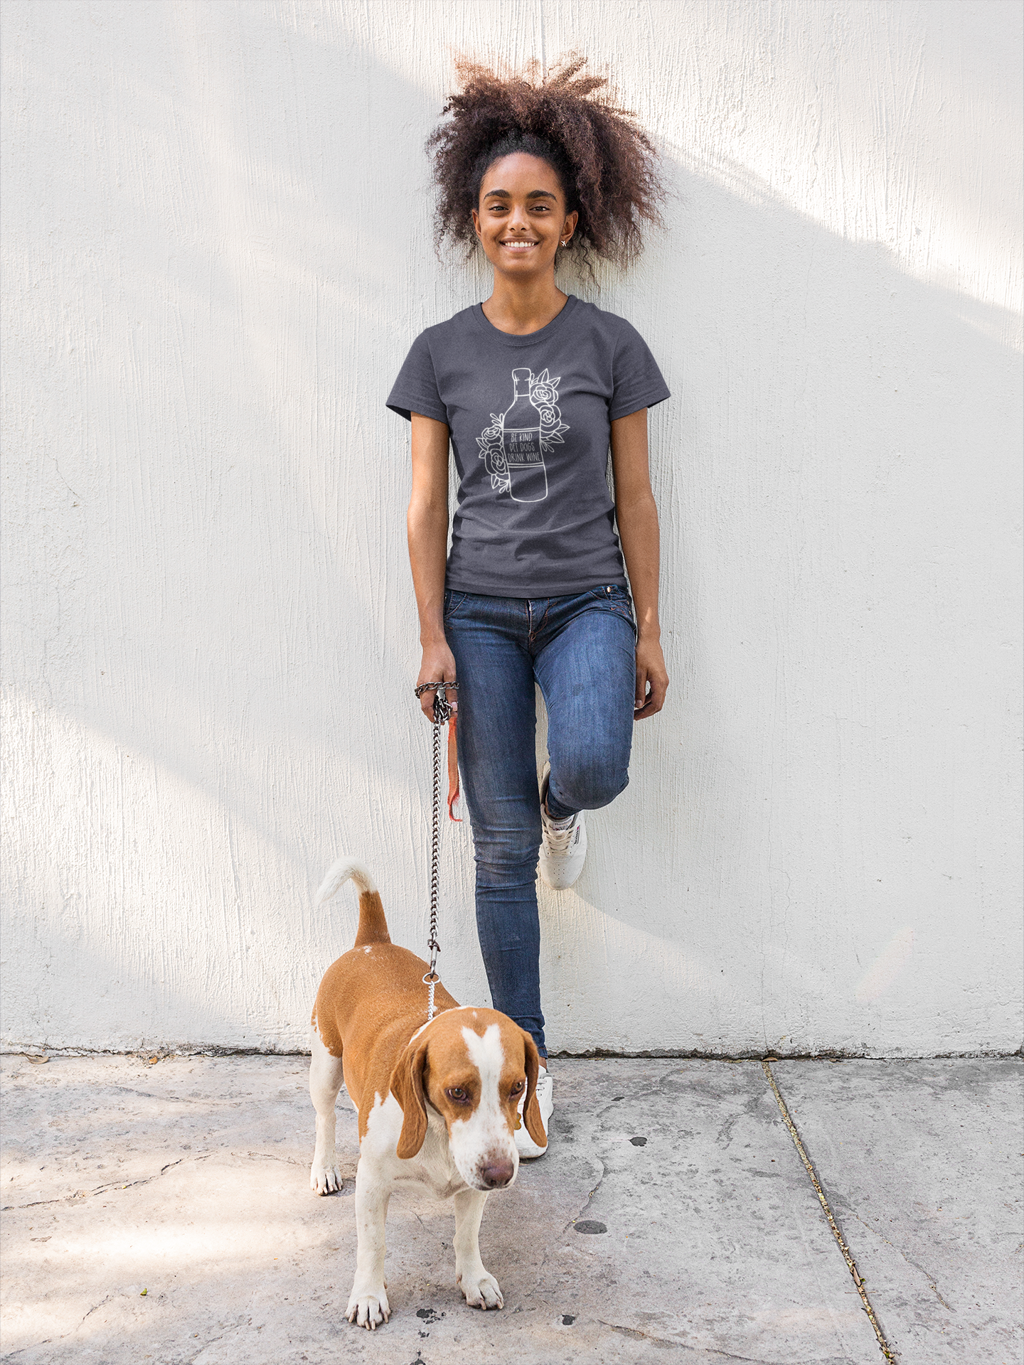
M669 681L647 472L647 408L669 390L628 322L556 284L571 257L628 263L662 191L650 142L594 97L605 82L583 67L572 59L538 81L535 68L502 79L460 64L451 120L429 142L438 240L482 247L494 287L416 339L388 397L412 423L418 684L459 681L492 1001L542 1059L538 850L547 885L572 886L587 849L583 811L627 785L634 721L661 710ZM449 442L460 487L445 558ZM550 753L539 790L534 681ZM426 691L430 718L433 703ZM538 1099L547 1132L546 1070ZM516 1138L523 1156L546 1151L526 1127Z

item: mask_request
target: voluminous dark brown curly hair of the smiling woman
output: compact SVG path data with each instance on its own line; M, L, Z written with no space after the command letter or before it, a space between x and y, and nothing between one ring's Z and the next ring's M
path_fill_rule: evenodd
M595 97L608 82L586 72L586 57L569 53L539 76L537 60L523 74L508 75L470 57L456 60L459 89L441 111L451 120L426 143L440 191L438 247L451 239L472 255L471 210L487 168L526 152L553 168L568 210L579 213L565 255L591 266L591 257L628 265L640 254L642 222L661 222L658 157L635 115L608 94Z

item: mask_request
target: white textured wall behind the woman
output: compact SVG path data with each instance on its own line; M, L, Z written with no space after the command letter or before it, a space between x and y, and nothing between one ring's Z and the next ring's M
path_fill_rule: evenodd
M351 893L427 906L384 408L456 48L612 64L670 700L545 893L553 1048L1020 1044L1021 10L7 0L4 1037L304 1046ZM593 291L579 289L594 296ZM486 1001L468 826L442 966Z

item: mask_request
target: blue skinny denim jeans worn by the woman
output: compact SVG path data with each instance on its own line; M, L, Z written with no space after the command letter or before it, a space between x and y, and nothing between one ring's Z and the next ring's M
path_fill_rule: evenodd
M556 819L608 805L629 781L636 628L617 584L571 597L445 592L459 677L459 768L477 859L477 930L490 998L541 1052L534 680L547 707Z

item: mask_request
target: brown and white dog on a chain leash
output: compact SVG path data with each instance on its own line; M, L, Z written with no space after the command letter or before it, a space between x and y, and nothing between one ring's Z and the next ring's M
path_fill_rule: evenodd
M341 1188L335 1156L335 1102L344 1080L359 1112L355 1177L356 1271L345 1317L374 1331L390 1317L384 1283L384 1222L401 1183L455 1201L455 1279L471 1308L502 1308L498 1282L481 1260L487 1193L519 1170L515 1130L547 1138L537 1103L537 1044L507 1014L459 1005L438 984L427 1022L429 966L388 934L380 893L355 859L339 859L317 904L352 879L359 889L355 946L324 973L313 1007L310 1097L317 1147L310 1185Z

